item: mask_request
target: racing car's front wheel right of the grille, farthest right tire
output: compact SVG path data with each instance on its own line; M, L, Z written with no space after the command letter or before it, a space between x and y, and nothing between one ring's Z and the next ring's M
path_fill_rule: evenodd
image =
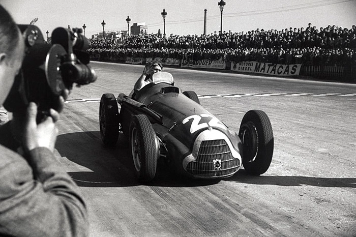
M242 164L252 175L260 175L270 167L274 138L267 114L261 110L248 111L241 122L239 137L243 144Z

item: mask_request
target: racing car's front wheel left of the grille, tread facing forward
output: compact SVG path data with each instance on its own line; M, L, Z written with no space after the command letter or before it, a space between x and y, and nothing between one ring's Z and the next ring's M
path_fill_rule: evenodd
M129 141L138 180L143 183L152 181L156 175L160 150L156 133L146 115L132 117Z

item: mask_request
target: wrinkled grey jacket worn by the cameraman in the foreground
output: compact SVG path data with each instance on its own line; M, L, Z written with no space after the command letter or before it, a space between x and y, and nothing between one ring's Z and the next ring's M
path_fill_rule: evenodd
M0 236L88 235L84 201L58 158L45 147L24 158L0 145Z

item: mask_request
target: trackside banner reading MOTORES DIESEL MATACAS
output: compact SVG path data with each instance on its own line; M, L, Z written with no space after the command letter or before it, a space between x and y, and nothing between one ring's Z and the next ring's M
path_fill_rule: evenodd
M231 70L235 72L253 72L274 76L298 76L302 64L269 64L257 62L231 62Z

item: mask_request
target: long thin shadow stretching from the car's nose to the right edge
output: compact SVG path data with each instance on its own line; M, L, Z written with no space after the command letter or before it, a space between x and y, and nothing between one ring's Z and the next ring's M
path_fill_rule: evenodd
M277 186L317 186L334 188L356 188L356 178L337 177L310 177L310 176L271 176L262 174L260 176L249 175L246 170L241 169L234 176L226 179L244 184L255 185L277 185Z

